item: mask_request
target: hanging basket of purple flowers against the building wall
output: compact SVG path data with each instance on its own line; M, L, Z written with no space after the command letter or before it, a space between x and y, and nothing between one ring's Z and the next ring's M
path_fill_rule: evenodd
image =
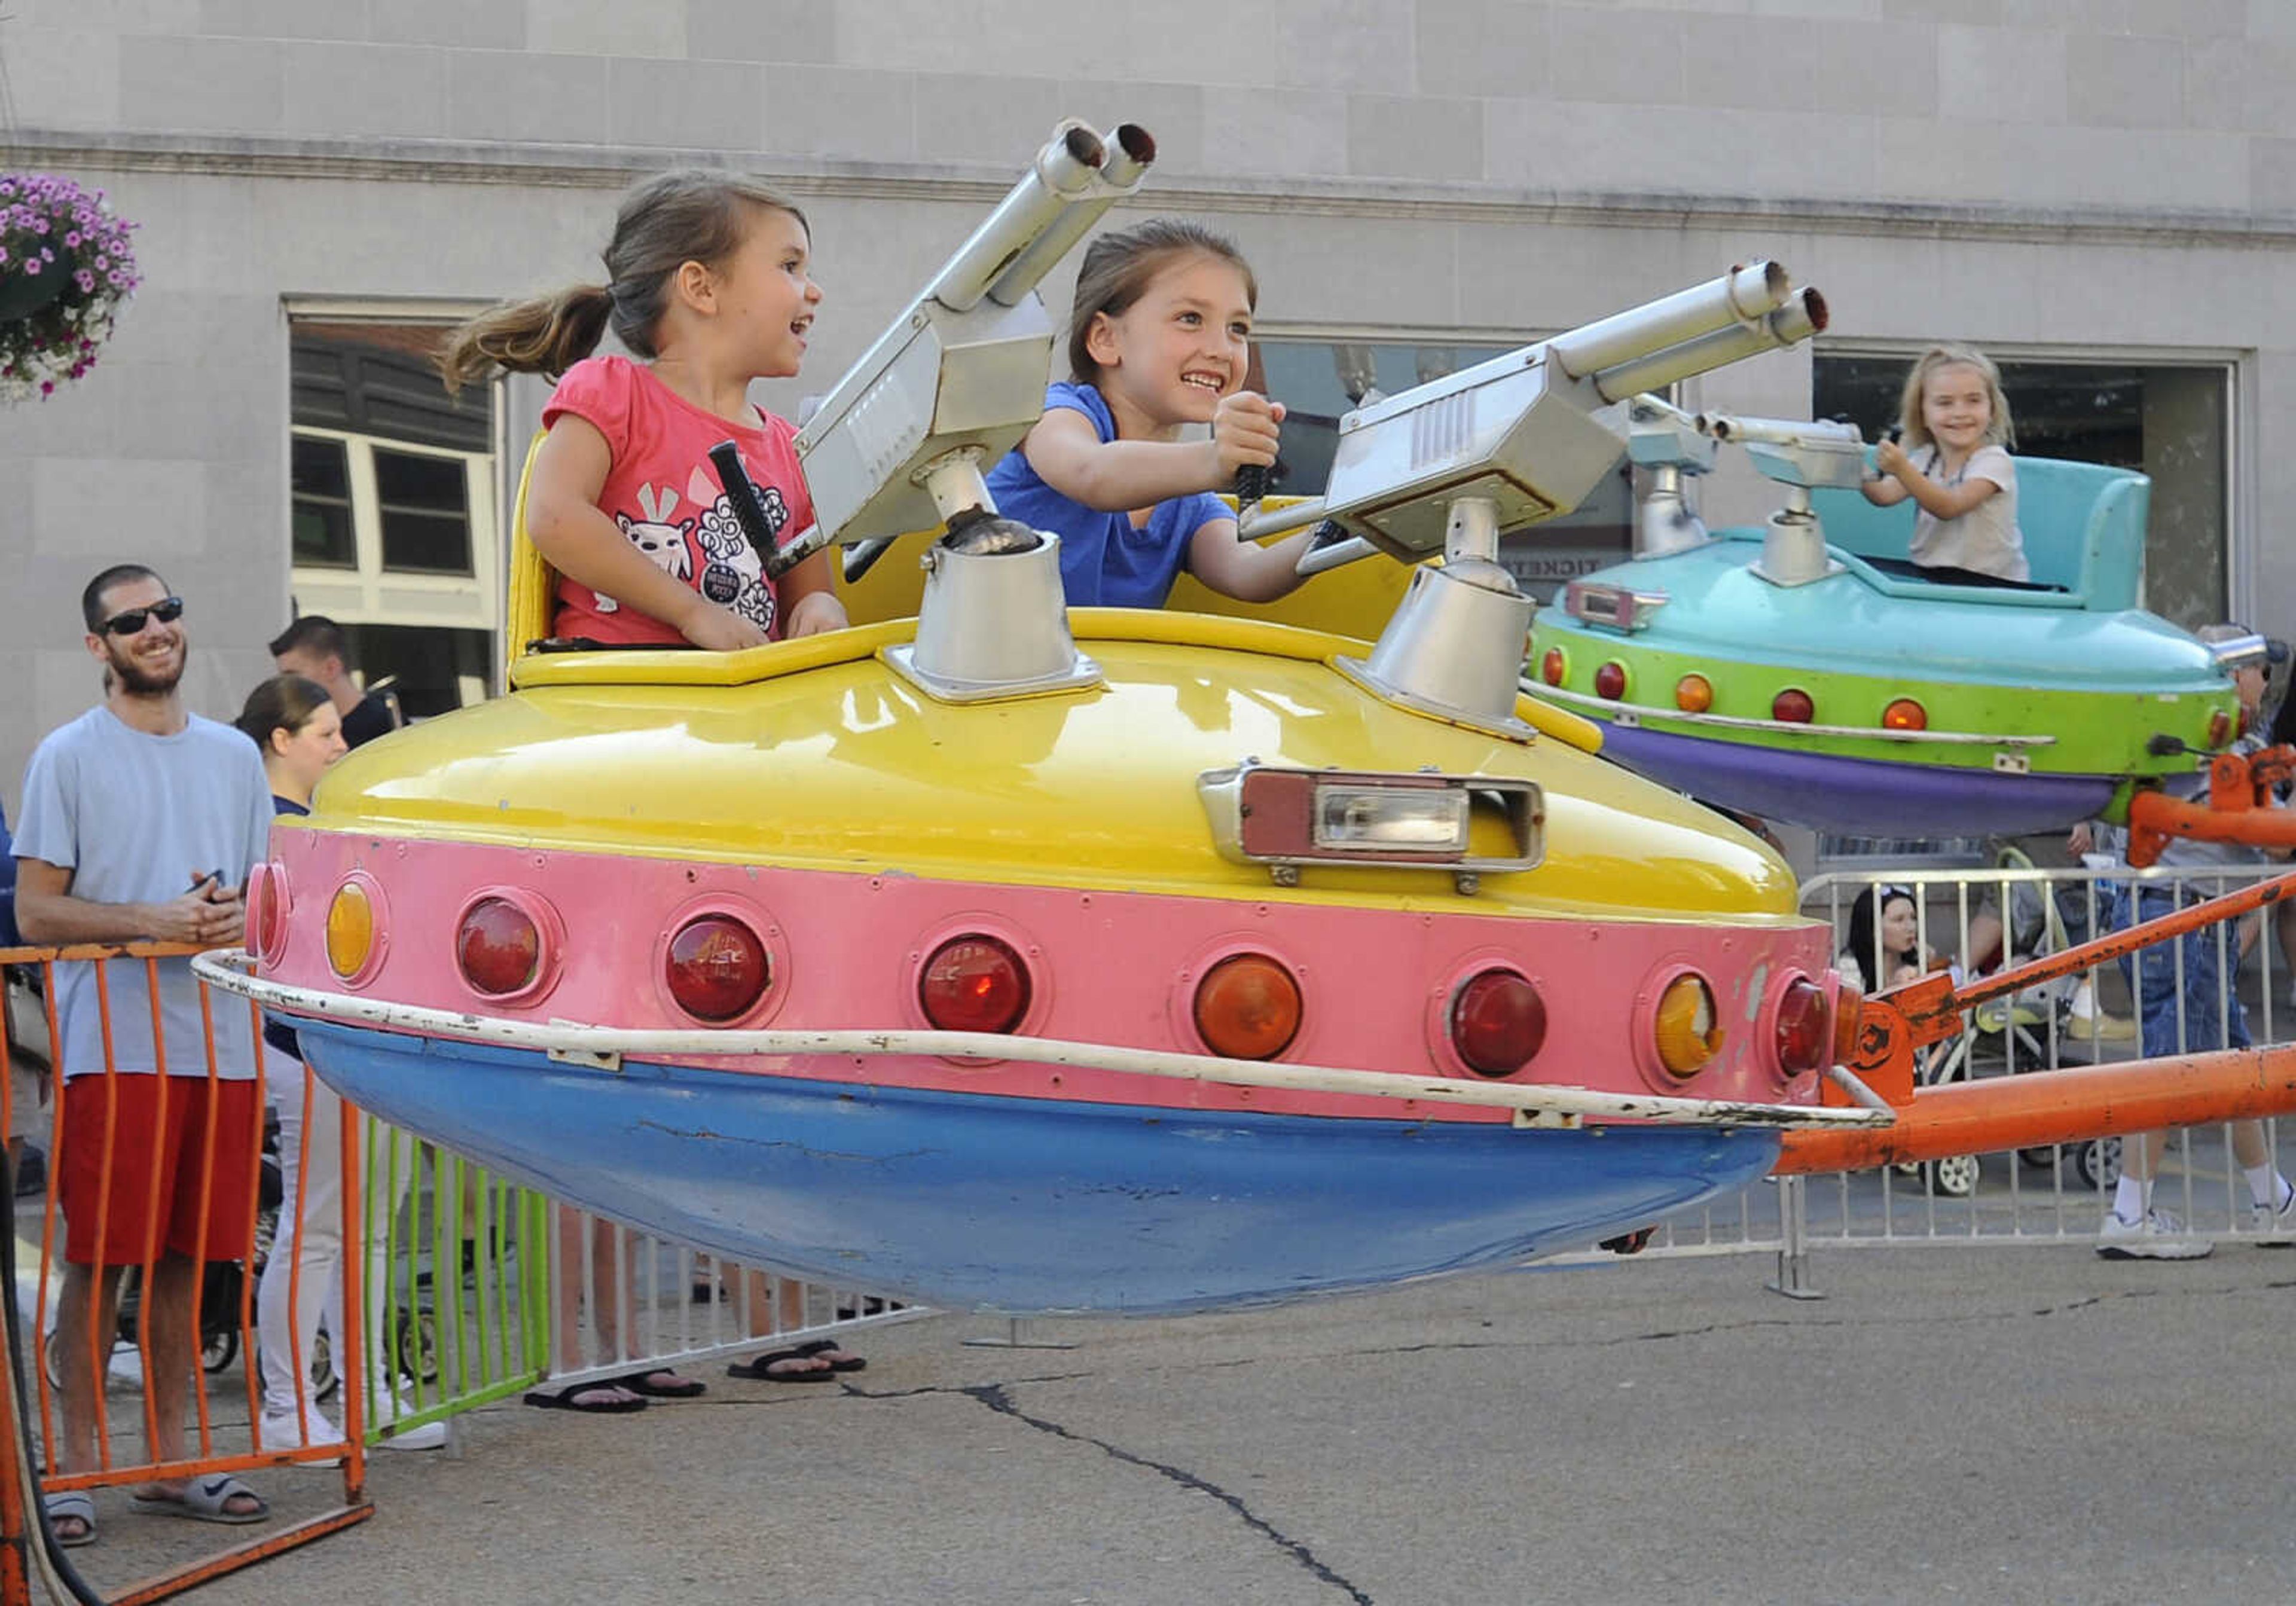
M129 230L103 191L0 172L0 402L53 395L96 365L135 285Z

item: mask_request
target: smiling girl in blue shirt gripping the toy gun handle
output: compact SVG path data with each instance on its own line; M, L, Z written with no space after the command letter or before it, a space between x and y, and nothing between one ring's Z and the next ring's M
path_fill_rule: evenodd
M1244 391L1258 285L1242 253L1178 218L1102 234L1084 253L1068 326L1075 381L990 471L996 510L1061 538L1070 607L1164 607L1187 567L1242 602L1300 584L1309 535L1235 538L1212 496L1277 460L1283 404ZM1212 439L1182 441L1182 425Z

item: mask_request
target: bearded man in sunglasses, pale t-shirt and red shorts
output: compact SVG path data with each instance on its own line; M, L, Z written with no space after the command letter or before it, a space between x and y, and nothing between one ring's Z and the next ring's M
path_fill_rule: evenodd
M271 839L262 758L232 726L184 708L184 600L158 574L138 563L103 570L80 595L80 616L87 653L106 669L106 694L51 731L25 770L11 846L16 924L41 944L239 942L248 871ZM147 974L158 979L156 1036ZM119 1280L99 1277L99 1266L152 1264L152 1450L163 1464L184 1459L200 1268L248 1254L257 1165L248 1011L211 1011L211 1082L188 958L156 960L149 972L140 958L103 960L103 988L90 963L55 967L64 1073L55 1167L67 1222L55 1337L67 1358L67 1470L99 1464L103 1365L87 1365L90 1328L101 1335L101 1353L119 1303ZM220 1523L269 1516L236 1477L152 1482L135 1505ZM83 1491L51 1496L48 1516L62 1544L96 1537L94 1503Z

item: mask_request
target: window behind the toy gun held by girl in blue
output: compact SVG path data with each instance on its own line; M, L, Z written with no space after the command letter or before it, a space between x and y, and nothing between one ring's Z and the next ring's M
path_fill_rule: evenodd
M1339 420L1373 388L1378 395L1396 395L1508 349L1513 347L1290 338L1254 342L1251 384L1286 409L1274 494L1322 494L1339 446ZM1527 593L1552 602L1566 579L1626 558L1632 551L1632 478L1621 457L1619 469L1575 512L1502 531L1499 563Z

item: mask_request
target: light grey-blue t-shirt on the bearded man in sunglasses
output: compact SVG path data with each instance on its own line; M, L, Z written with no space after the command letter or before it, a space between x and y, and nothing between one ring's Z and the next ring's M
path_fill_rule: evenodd
M23 823L14 855L71 871L71 896L90 903L165 903L193 873L223 871L243 887L271 841L271 783L255 742L232 726L191 715L174 735L147 735L96 705L60 726L23 772ZM158 965L161 1048L170 1075L207 1075L200 983L188 958ZM106 960L113 1064L154 1071L147 960ZM96 967L55 967L55 1016L64 1075L103 1071ZM248 1009L214 997L216 1073L255 1075Z

